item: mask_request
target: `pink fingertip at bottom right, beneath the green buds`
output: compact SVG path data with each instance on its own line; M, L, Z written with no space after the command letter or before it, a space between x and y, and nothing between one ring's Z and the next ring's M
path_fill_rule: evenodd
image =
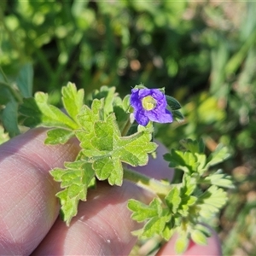
M177 236L173 236L170 241L163 246L157 253L157 256L161 255L180 255L175 252L175 242ZM218 239L218 235L212 230L212 236L207 238L207 246L200 246L193 241L189 242L189 247L182 255L211 255L221 256L221 245Z

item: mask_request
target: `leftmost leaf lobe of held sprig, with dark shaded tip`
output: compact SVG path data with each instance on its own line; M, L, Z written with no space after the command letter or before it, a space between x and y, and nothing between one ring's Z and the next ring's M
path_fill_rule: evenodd
M20 113L27 117L24 124L29 127L42 125L69 130L78 128L73 119L48 103L48 95L44 92L37 92L34 98L24 99L24 103L20 106Z

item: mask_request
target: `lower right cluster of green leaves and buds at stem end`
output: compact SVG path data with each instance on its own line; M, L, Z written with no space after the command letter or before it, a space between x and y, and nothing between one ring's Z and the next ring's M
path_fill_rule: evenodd
M218 172L209 172L213 166L230 156L224 147L218 147L209 158L204 154L202 141L191 139L182 142L185 151L171 150L165 159L171 167L183 171L182 183L171 185L164 199L145 205L130 200L131 218L138 222L145 221L143 229L135 231L135 235L148 238L159 234L166 240L177 232L175 249L183 253L189 244L189 238L200 245L207 244L210 231L199 222L212 218L224 207L228 197L224 189L232 187L230 177Z

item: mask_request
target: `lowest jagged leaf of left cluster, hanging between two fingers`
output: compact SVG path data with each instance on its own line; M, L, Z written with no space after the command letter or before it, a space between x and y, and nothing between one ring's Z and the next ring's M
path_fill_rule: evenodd
M87 189L95 185L95 172L90 163L76 161L66 163L67 169L55 168L50 171L55 181L61 183L61 190L56 194L61 200L61 211L67 225L78 212L79 200L85 201Z

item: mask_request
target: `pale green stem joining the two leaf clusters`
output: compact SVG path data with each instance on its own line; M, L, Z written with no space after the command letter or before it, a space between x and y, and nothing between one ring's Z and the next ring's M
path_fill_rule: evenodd
M137 186L147 189L156 195L159 195L160 198L168 195L170 190L173 188L173 185L171 184L166 185L153 177L148 177L142 173L127 168L124 168L124 179L130 181L131 183L135 183Z

